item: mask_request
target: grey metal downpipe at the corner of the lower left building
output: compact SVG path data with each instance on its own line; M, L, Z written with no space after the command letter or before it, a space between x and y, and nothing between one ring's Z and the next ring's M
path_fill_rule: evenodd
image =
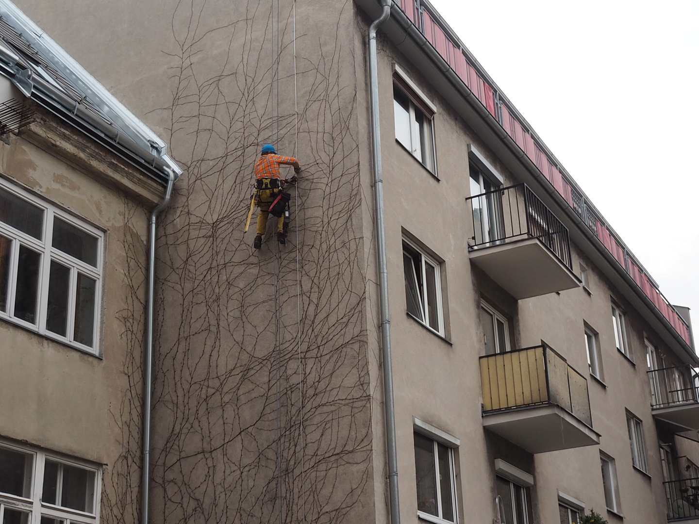
M168 175L165 198L150 214L148 231L148 297L145 323L145 371L143 373L143 465L141 467L141 514L142 524L148 524L148 504L150 502L150 401L153 370L153 302L155 295L155 226L158 214L170 203L175 184L175 173L164 169Z

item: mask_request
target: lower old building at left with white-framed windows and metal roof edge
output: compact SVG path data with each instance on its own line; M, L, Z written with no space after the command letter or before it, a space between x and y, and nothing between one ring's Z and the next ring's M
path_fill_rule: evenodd
M126 522L140 490L148 219L178 168L32 31L3 12L0 522Z

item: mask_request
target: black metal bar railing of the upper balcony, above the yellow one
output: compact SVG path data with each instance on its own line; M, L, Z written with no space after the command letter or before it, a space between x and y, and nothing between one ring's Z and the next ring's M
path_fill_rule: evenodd
M472 249L538 238L572 270L568 228L526 184L470 196L466 201L471 208Z

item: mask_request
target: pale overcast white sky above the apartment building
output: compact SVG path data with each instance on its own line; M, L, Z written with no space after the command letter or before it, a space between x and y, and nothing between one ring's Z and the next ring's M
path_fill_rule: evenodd
M699 335L699 1L431 3Z

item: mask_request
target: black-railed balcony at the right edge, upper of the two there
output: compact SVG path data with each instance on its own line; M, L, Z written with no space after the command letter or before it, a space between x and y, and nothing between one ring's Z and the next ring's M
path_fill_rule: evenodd
M673 430L699 430L699 377L690 365L648 372L655 419Z

